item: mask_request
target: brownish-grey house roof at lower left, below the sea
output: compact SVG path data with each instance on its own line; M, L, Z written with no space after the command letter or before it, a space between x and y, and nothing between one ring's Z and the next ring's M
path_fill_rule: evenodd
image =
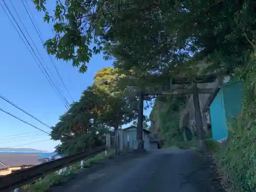
M47 162L47 160L41 159L38 155L0 155L0 162L9 167L38 165Z

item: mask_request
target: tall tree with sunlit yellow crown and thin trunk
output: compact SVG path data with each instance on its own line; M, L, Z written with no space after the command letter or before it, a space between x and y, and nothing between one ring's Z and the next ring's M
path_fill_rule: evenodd
M136 118L137 100L126 96L127 89L119 83L124 75L115 68L103 68L95 75L94 85L103 97L106 110L102 112L101 121L104 125L114 127L115 151L118 153L118 127ZM134 95L135 96L135 95Z

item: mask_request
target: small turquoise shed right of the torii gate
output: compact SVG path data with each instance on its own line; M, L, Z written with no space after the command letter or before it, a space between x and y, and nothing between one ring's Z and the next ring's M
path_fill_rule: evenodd
M228 137L228 123L241 114L243 84L241 81L223 84L210 103L212 138L222 142Z

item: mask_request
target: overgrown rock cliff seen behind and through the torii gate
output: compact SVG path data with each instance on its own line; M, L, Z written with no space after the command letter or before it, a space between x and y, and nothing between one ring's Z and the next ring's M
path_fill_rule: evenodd
M204 70L209 67L212 63L205 63L205 61L195 61L191 62L191 65L188 68L182 68L182 72L180 75L187 76L198 76L201 74L205 74ZM188 77L188 78L189 78ZM189 88L189 85L172 85L172 89L182 89ZM200 83L198 84L198 88L216 88L218 86L218 81L212 83ZM202 112L206 101L210 94L200 94L200 108L202 113L202 120L204 129L207 129L207 124L209 122L208 116ZM180 135L180 132L183 132L183 127L187 127L189 130L193 131L195 129L195 112L194 112L194 103L193 96L186 95L183 96L183 103L179 103L178 111L174 110L174 96L169 96L165 99L156 99L153 110L150 115L151 120L151 131L152 133L160 133L161 138L168 138L172 135L177 136ZM185 99L184 99L185 98ZM177 108L177 106L176 106ZM170 131L175 130L175 131Z

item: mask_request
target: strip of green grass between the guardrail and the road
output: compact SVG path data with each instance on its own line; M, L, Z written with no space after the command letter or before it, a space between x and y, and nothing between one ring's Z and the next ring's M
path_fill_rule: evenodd
M107 151L105 153L99 153L94 157L90 157L84 160L83 168L90 167L94 164L100 163L105 159L112 158L114 156L114 150ZM74 178L77 174L81 172L82 168L80 162L75 163L67 167L66 172L58 173L54 172L43 178L36 180L33 183L29 183L22 187L22 191L26 192L45 192L48 191L50 187L56 186L62 182L68 181Z

